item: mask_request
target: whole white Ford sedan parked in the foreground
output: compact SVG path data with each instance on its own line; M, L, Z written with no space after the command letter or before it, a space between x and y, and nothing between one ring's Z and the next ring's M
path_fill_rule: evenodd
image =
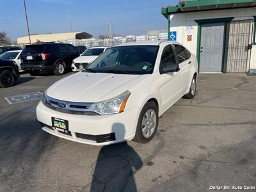
M36 108L42 129L80 143L147 143L158 119L196 93L196 56L175 42L111 47L84 70L52 84Z

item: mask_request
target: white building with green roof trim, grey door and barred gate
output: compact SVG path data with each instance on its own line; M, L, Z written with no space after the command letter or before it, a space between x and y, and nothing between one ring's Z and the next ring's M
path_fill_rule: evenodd
M255 0L180 1L161 12L168 39L196 54L200 72L256 73Z

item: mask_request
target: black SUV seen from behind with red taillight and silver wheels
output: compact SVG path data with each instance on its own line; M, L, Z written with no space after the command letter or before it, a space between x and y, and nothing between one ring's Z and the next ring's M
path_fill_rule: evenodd
M76 47L70 44L26 45L20 54L20 67L31 76L45 71L53 71L60 76L71 69L72 61L78 56Z

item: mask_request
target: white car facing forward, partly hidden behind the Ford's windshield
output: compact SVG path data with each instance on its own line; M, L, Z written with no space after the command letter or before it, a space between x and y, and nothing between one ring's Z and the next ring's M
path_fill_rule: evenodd
M90 49L87 49L83 54L72 61L72 70L75 72L84 70L84 68L107 49L109 49L109 47L91 47Z

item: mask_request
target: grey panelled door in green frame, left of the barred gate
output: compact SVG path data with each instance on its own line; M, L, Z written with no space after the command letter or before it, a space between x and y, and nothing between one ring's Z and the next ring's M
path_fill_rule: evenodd
M200 45L200 72L221 72L225 23L203 24Z

